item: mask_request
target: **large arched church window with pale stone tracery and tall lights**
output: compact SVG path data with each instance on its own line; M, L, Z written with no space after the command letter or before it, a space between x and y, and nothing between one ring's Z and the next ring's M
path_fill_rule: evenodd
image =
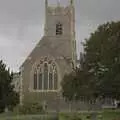
M55 62L44 59L34 67L34 90L57 90L58 72Z

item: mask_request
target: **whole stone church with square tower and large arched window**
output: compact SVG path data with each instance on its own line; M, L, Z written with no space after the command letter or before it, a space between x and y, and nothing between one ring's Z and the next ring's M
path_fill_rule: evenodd
M20 67L20 103L45 103L49 110L67 108L61 81L76 67L74 0L50 6L45 0L44 35ZM59 103L58 103L59 102Z

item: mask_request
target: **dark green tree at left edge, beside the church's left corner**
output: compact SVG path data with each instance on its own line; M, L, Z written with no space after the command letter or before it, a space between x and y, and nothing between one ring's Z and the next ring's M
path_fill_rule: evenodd
M11 84L13 73L6 68L3 61L0 61L0 112L3 112L6 107L13 108L19 103L19 96L13 90L14 86Z

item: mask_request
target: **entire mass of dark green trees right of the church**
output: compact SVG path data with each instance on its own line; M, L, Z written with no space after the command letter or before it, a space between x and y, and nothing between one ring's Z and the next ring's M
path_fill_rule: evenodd
M63 96L79 100L80 96L120 99L120 22L100 25L84 43L80 68L65 75Z

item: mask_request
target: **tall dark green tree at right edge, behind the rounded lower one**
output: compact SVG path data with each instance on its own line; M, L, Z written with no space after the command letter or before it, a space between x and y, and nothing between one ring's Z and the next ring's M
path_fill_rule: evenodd
M84 50L98 95L120 99L120 22L99 26L86 40Z

